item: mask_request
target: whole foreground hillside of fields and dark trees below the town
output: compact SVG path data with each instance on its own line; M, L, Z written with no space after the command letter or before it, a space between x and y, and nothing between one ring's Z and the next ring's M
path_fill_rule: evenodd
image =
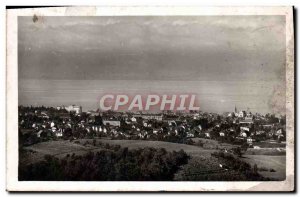
M285 179L285 163L277 162L277 164L273 160L270 162L270 159L274 157L280 157L282 161L285 161L284 155L248 155L249 149L245 152L239 146L221 144L207 139L201 139L201 142L198 141L193 145L162 141L110 139L41 142L23 147L19 152L19 178L20 180L94 180L93 177L95 176L96 180L133 181L259 181ZM152 147L155 147L155 149ZM180 151L181 149L184 152ZM267 151L267 149L264 151ZM178 155L180 152L182 156ZM188 156L190 158L187 160L186 157ZM259 157L261 159L255 156L261 156ZM180 160L180 158L183 161L178 163L177 160ZM264 159L263 162L261 162L262 159ZM94 162L94 160L97 162ZM220 164L222 167L220 167ZM91 165L93 168L96 166L96 168L103 170L92 170ZM125 167L122 168L122 166ZM63 174L58 173L59 176L56 176L57 174L54 176L46 173L56 171L63 172ZM82 175L83 172L90 174L91 177ZM93 173L102 173L102 175L94 175ZM77 174L76 179L74 175L71 176L70 174Z

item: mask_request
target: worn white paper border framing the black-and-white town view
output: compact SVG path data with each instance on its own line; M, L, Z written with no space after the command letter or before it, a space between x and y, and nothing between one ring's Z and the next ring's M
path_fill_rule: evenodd
M269 182L47 182L18 181L18 16L285 15L286 180ZM56 7L7 10L8 191L292 191L294 190L294 32L292 7Z

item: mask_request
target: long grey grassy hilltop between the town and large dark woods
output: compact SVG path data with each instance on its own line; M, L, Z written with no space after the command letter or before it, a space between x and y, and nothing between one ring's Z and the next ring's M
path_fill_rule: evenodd
M48 141L41 142L31 146L27 146L24 149L26 153L20 156L20 162L24 164L40 161L45 155L52 155L56 157L64 157L67 154L76 155L87 153L88 151L101 150L98 146L93 146L92 139L80 139L70 142L68 140ZM88 143L87 143L88 142ZM188 155L193 157L209 157L213 150L206 150L201 147L176 144L162 141L144 141L144 140L109 140L109 139L97 139L96 144L99 142L110 145L120 145L122 147L128 147L129 149L153 147L153 148L165 148L167 151L180 151L183 149ZM86 144L86 145L85 145Z

